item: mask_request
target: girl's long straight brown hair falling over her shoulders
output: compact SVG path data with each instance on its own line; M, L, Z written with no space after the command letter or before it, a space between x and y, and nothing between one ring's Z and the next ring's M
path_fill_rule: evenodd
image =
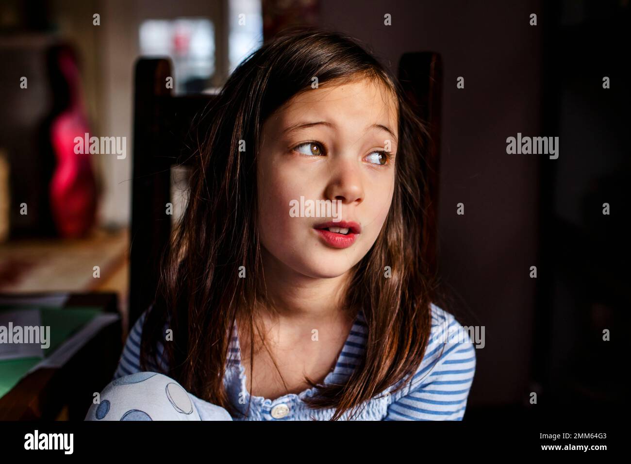
M170 321L174 339L163 343L165 373L233 414L238 411L223 386L231 329L243 311L254 333L254 308L269 303L257 229L261 128L274 110L310 90L313 76L320 84L370 78L396 95L399 143L389 214L374 246L350 270L344 299L346 307L363 310L365 355L343 385L305 379L318 388L305 402L310 408L336 408L331 420L346 410L352 417L370 398L411 379L430 337L435 276L428 275L423 260L423 122L398 80L355 39L322 28L285 30L233 71L203 116L213 123L194 154L186 211L163 256L158 292L143 326L141 369L155 359L156 342L164 342L163 326ZM240 140L252 148L239 151ZM247 278L238 277L240 266Z

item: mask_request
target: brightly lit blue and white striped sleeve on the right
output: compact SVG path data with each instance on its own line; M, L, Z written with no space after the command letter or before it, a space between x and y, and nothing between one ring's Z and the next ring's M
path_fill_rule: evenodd
M393 395L384 420L463 419L475 374L475 347L454 316L437 310L423 362L404 392Z

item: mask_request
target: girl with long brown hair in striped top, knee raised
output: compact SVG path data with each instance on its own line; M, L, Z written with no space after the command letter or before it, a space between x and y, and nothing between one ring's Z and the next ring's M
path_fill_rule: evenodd
M292 29L205 117L155 302L86 419L461 420L475 349L433 302L425 132L396 78Z

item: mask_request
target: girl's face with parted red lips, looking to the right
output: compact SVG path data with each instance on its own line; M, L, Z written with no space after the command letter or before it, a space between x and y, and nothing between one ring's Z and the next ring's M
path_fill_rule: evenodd
M370 250L394 192L397 115L394 95L356 80L296 95L268 118L257 169L259 234L274 268L338 277ZM351 223L349 234L319 229L327 222L339 222L341 232Z

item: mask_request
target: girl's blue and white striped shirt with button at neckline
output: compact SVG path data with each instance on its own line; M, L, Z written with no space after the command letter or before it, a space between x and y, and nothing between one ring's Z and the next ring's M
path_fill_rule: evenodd
M353 420L462 420L467 405L469 389L473 382L476 366L475 347L468 331L447 311L434 304L432 307L432 328L420 366L413 374L403 379L407 382L401 390L390 393L394 384L362 405L363 410ZM151 309L151 308L150 308ZM127 342L119 360L114 378L140 371L139 352L142 326L146 312L138 318L127 336ZM456 336L454 336L456 335ZM359 311L353 328L339 354L335 367L324 379L325 384L339 383L348 379L357 367L364 353L367 340L367 325L363 312ZM230 402L240 410L233 420L329 420L334 408L310 409L304 403L307 396L317 393L309 388L299 394L288 393L275 400L262 396L249 395L245 386L245 368L240 359L239 337L236 325L233 326L230 341L230 355L227 360L224 384ZM163 345L158 342L158 352L162 355ZM166 360L161 358L162 366ZM150 370L168 372L150 363ZM399 381L400 383L401 381ZM203 417L203 409L209 403L192 395ZM248 402L251 402L249 410ZM348 411L342 420L348 420Z

